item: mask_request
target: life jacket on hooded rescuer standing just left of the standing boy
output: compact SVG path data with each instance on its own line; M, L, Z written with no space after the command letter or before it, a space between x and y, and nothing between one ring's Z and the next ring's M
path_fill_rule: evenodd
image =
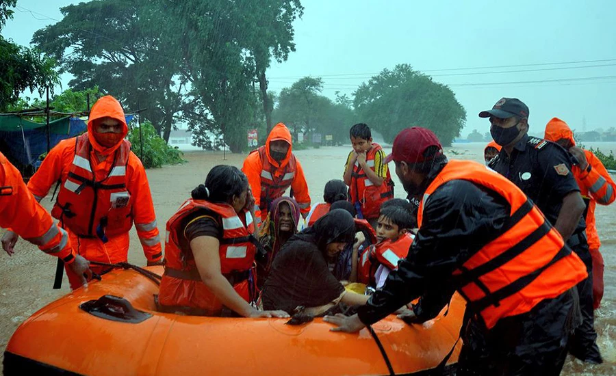
M270 163L268 156L266 155L266 147L261 146L257 150L252 152L258 152L261 158L261 201L259 209L261 211L268 211L272 201L283 196L283 193L293 183L295 174L297 173L297 160L295 155L291 154L289 157L289 163L285 165L285 170L282 174L276 174L277 166Z

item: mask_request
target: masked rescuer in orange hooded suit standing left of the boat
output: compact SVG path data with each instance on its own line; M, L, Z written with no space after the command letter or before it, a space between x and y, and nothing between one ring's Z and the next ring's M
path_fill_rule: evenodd
M127 133L118 100L99 98L90 110L88 132L51 149L28 188L40 201L58 184L51 215L70 234L76 254L101 263L127 261L134 221L148 265L156 265L162 246L152 196L144 167L124 139ZM95 273L105 269L92 267ZM66 268L66 274L70 288L81 285L73 271Z

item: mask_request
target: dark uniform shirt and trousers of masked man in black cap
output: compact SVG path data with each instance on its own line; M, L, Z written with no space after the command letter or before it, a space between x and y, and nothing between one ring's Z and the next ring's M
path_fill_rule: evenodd
M489 163L489 167L522 189L548 220L556 224L563 198L572 191L580 191L580 186L571 173L576 163L576 159L558 144L524 135L514 146L511 157L505 150L501 150ZM582 218L574 234L567 239L567 245L580 256L589 274L587 280L580 282L577 288L583 321L576 330L572 349L579 349L576 355L582 360L600 362L601 357L596 345L597 334L593 329L592 258L585 228L586 222Z

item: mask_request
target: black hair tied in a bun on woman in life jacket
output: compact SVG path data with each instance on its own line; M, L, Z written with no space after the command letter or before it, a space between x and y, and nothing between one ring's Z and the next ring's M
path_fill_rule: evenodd
M238 167L217 165L207 174L205 183L192 190L194 200L230 203L248 188L248 178Z

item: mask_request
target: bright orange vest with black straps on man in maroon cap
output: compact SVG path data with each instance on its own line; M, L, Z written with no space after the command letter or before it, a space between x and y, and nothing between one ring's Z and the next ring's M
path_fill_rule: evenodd
M528 312L587 277L585 265L537 206L504 176L472 161L449 161L428 186L418 211L420 231L426 200L450 180L486 187L511 205L511 217L502 230L453 273L467 307L488 328L503 317Z

